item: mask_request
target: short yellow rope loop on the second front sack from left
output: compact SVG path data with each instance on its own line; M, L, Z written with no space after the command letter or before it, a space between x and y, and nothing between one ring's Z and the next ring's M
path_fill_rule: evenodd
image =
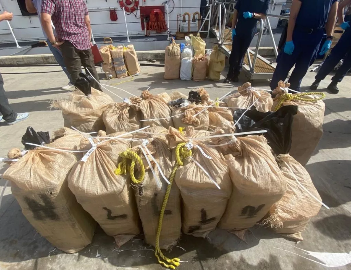
M133 181L134 184L140 184L141 182L143 182L144 177L145 177L145 167L144 167L144 163L143 160L141 160L141 158L139 157L139 155L137 153L135 153L134 151L132 151L131 149L128 149L122 153L119 154L119 156L122 158L122 161L119 162L117 169L115 169L114 173L117 175L120 174L127 174L127 160L131 159L131 166L129 167L129 173L131 175L131 180ZM135 164L138 162L139 166L140 166L140 175L139 178L136 179L134 176L134 168L135 168Z

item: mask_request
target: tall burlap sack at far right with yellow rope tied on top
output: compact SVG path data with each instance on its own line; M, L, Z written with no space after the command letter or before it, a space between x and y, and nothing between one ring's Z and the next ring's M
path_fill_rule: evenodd
M288 94L291 95L291 100L286 100L288 97L284 95L284 90L280 88L284 88L284 86L289 87L290 84L285 85L284 82L279 82L278 88L273 91L273 95L277 96L274 99L272 110L279 109L277 105L281 98L284 100L283 106L299 106L292 123L292 142L289 154L305 166L323 136L325 104L322 100L313 101L313 99L320 98L320 96L313 95L302 96L304 99L311 99L311 102L294 99L299 94Z

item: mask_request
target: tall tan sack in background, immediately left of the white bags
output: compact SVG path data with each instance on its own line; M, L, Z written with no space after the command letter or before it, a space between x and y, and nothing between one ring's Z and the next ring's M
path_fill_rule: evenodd
M180 47L172 39L172 44L166 47L165 76L166 80L180 78Z

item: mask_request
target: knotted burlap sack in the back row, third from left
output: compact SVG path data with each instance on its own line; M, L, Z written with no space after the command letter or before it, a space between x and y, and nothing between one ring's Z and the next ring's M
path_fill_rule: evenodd
M145 90L141 93L141 99L142 120L157 119L142 121L141 127L162 126L168 129L168 127L173 126L172 111L168 107L168 102L171 101L171 98L167 93L153 95L148 90Z

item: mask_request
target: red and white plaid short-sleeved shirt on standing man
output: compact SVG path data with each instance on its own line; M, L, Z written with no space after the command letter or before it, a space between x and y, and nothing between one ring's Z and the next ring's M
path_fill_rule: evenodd
M69 41L78 50L91 48L84 22L85 16L89 15L84 0L42 0L41 12L51 15L60 41Z

